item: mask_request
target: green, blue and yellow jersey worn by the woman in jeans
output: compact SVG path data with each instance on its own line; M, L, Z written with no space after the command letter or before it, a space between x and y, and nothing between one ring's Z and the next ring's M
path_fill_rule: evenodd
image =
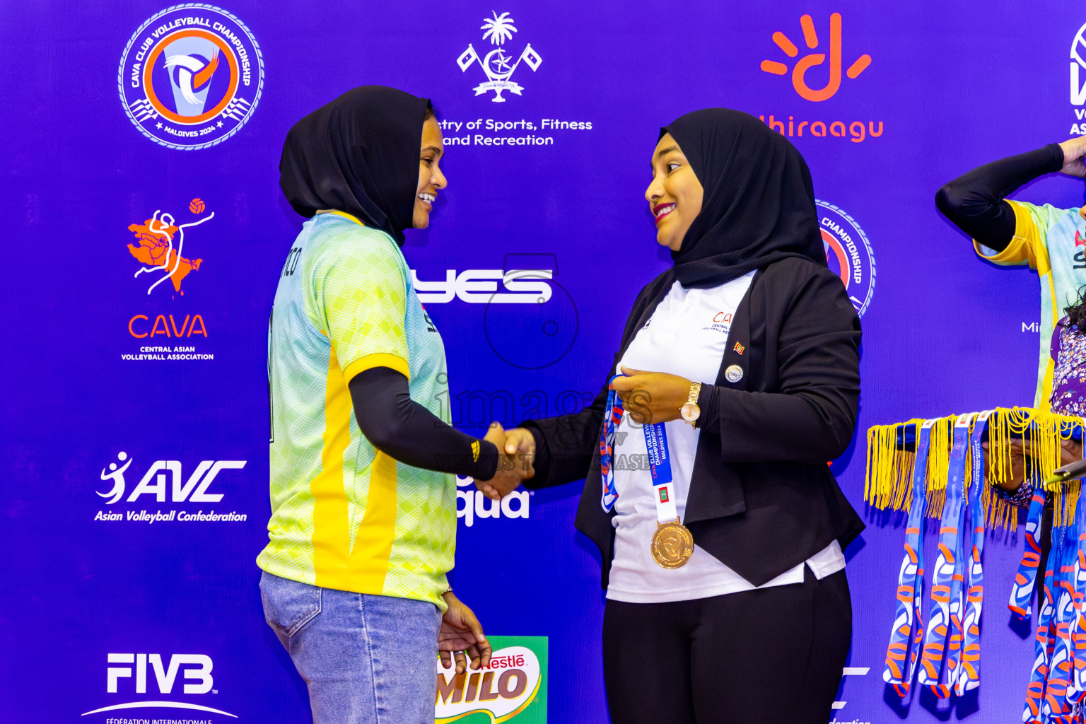
M348 382L379 366L407 376L412 399L449 422L444 346L400 247L346 214L318 214L275 295L272 519L256 562L292 581L443 611L456 482L397 462L362 434Z

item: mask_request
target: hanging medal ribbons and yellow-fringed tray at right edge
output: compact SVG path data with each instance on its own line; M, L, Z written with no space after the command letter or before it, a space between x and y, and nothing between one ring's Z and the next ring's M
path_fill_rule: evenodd
M1021 474L1024 453L1034 495L1008 606L1030 617L1035 587L1040 604L1022 721L1086 724L1086 510L1078 505L1081 481L1053 474L1062 442L1081 441L1084 428L1082 418L999 408L869 431L864 498L876 509L908 510L883 672L898 696L909 695L913 674L938 698L980 685L985 534L1016 528L1016 509L993 486ZM1053 513L1052 546L1041 570L1046 506ZM938 520L939 531L926 621L921 615L925 518Z

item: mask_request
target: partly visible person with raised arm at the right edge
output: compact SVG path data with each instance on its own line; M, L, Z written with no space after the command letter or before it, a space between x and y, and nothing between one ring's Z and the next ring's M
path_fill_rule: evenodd
M1086 137L994 161L956 178L935 204L973 239L982 257L1005 266L1028 264L1040 278L1040 347L1034 407L1048 409L1055 360L1052 331L1086 283L1086 207L1037 206L1006 196L1038 176L1086 177Z

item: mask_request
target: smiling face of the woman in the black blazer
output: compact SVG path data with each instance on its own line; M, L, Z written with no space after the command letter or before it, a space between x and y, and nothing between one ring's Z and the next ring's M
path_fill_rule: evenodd
M686 229L702 212L702 182L671 134L653 151L653 181L645 190L656 217L656 243L678 252Z

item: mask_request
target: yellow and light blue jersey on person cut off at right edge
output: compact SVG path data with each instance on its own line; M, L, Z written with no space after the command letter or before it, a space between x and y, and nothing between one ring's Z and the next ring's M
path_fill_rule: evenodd
M1001 252L973 241L976 253L1003 266L1028 264L1040 277L1040 352L1034 407L1048 409L1052 392L1052 330L1063 309L1078 301L1078 287L1086 283L1086 221L1077 208L1035 206L1022 201L1007 203L1014 209L1014 238Z

